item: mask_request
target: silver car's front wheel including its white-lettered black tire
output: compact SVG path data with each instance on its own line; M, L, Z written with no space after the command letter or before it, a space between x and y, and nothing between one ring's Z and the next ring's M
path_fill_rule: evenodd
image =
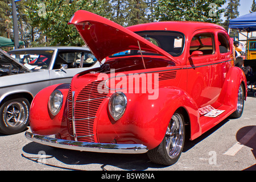
M0 133L10 135L24 131L28 126L30 103L25 98L6 101L0 107Z

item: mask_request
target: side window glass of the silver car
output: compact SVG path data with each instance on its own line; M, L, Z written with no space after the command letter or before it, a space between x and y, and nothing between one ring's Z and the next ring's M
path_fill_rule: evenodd
M67 64L68 68L91 67L96 61L97 59L92 53L60 52L56 57L53 69L60 69L62 64Z

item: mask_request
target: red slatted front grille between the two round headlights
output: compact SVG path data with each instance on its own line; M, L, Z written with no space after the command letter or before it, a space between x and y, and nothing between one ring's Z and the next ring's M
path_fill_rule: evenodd
M101 102L108 93L99 93L98 86L104 86L102 81L94 81L85 86L73 102L74 110L72 115L72 92L68 92L68 132L72 140L82 142L94 142L94 119ZM102 89L103 91L106 91ZM75 119L72 119L72 118ZM73 125L75 122L75 125ZM75 132L73 130L75 126ZM74 136L76 134L76 137Z

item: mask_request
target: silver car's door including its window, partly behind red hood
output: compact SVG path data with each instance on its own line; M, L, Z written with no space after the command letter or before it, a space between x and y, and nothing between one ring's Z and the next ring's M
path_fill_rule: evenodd
M98 65L98 61L89 51L58 51L53 69L49 71L51 85L69 83L77 73Z

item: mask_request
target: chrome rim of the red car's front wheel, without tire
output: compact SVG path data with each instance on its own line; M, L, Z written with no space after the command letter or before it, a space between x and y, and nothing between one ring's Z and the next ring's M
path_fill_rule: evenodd
M171 159L180 155L183 149L184 126L181 116L175 113L166 131L166 151Z

